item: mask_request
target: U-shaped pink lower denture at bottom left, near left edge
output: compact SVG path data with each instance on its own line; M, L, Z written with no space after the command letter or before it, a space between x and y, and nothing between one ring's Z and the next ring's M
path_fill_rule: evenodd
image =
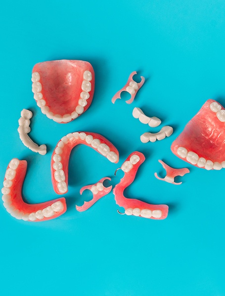
M5 172L1 189L3 206L11 216L30 222L54 219L66 211L65 198L58 198L41 204L27 204L23 201L21 191L26 175L27 162L14 158Z

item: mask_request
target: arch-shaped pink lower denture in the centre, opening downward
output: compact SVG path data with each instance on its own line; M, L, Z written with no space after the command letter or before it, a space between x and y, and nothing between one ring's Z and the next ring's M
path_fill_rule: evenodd
M58 142L51 158L51 180L54 191L63 194L68 191L68 163L71 150L78 144L85 144L112 163L119 161L119 152L105 137L94 132L69 133Z

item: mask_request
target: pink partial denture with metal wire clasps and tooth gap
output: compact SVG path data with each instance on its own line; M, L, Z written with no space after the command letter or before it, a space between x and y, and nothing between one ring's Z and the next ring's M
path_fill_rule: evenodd
M115 195L116 204L125 209L125 214L162 220L168 215L169 207L167 205L151 205L124 196L124 190L132 184L136 172L144 160L144 155L138 151L133 152L126 159L121 166L121 169L125 172L124 177L113 189L113 194Z

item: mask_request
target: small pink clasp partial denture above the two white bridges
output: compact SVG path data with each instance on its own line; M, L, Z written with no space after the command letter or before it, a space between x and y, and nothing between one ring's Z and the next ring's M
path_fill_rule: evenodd
M128 79L128 82L126 83L126 85L123 88L121 88L121 90L117 91L117 93L113 96L113 98L112 98L113 104L115 103L115 101L117 99L121 99L121 92L122 91L127 91L131 94L131 98L126 101L127 104L131 104L134 101L137 91L144 84L144 77L143 76L140 77L141 78L140 83L136 83L133 80L133 76L135 74L136 74L136 71L132 72L131 75L129 76L129 79Z

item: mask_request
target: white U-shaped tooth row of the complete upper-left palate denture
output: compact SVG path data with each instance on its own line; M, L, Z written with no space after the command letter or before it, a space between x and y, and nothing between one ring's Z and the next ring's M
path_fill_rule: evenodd
M78 101L78 105L76 107L76 111L72 112L71 114L65 114L63 116L59 114L53 114L49 111L49 108L46 106L46 102L43 99L42 94L42 84L40 83L40 74L38 72L32 73L32 91L34 92L34 98L37 100L37 105L41 108L43 114L45 114L49 119L54 120L57 123L68 123L72 119L76 119L80 114L84 112L84 107L88 104L87 100L90 98L90 90L91 90L91 83L92 75L90 71L85 71L83 74L83 82L81 85L82 92L80 94L80 99Z

